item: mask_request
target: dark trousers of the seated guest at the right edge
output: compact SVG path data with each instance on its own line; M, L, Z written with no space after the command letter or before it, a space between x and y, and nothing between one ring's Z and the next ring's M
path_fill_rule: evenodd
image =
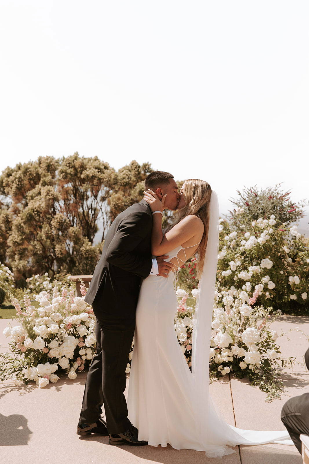
M281 410L281 420L297 450L302 454L300 434L309 435L309 393L287 400Z

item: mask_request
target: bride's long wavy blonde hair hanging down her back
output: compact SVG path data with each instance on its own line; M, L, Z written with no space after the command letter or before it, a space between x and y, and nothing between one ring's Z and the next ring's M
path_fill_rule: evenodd
M211 187L205 180L188 179L183 184L183 194L187 198L187 204L184 208L177 211L175 215L175 226L181 219L189 214L199 217L204 224L202 240L197 247L197 277L201 277L205 259L205 252L208 241L208 224L209 224L209 205L211 197ZM170 226L169 228L171 228Z

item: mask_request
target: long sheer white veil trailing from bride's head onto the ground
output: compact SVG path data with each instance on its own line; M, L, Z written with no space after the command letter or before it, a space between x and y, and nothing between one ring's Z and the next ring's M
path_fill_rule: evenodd
M196 433L208 457L221 458L235 452L226 445L263 445L279 443L294 445L286 430L243 430L225 422L209 393L209 348L214 306L219 243L218 196L210 199L208 243L200 280L200 294L195 309L192 335L192 375L194 381Z

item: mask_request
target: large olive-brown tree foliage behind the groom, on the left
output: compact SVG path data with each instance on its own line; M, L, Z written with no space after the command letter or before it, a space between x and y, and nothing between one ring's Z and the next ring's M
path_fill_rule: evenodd
M116 172L98 157L74 155L6 168L0 176L1 261L18 285L33 274L91 274L115 216L143 197L149 163ZM101 242L93 246L102 229Z

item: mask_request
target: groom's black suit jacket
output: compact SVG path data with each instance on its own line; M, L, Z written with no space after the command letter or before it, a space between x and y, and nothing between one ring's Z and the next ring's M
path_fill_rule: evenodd
M141 278L151 260L152 213L145 200L120 213L108 229L85 302L95 316L135 317Z

